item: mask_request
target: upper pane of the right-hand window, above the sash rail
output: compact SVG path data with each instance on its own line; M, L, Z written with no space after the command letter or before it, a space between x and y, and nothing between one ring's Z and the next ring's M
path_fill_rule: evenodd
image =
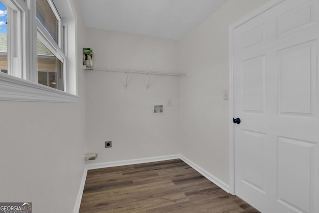
M47 0L36 0L36 18L58 43L58 20Z

